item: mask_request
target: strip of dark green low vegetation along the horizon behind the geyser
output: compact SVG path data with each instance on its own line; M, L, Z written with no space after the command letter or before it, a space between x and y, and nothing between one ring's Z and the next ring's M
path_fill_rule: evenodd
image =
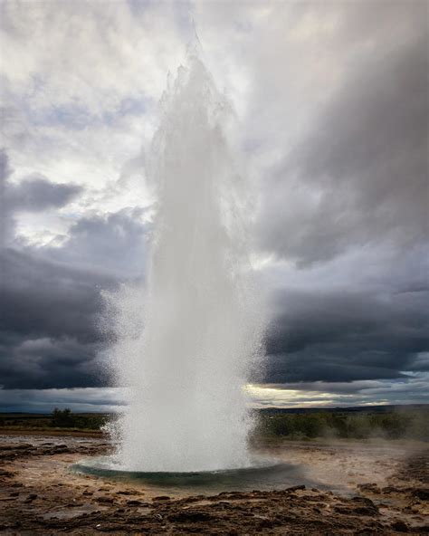
M429 406L373 407L347 409L266 409L259 413L257 436L291 440L413 439L429 441ZM55 408L51 415L0 414L1 430L98 432L112 416L72 413Z

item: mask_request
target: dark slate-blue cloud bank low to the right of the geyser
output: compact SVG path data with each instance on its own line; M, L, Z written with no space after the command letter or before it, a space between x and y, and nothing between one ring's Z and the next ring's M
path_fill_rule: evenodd
M390 295L344 289L278 293L282 312L268 336L263 379L271 384L348 382L423 371L428 300L429 285Z

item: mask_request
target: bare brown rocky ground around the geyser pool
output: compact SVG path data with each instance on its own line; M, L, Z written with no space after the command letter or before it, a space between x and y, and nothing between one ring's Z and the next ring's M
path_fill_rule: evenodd
M0 436L0 534L429 533L428 445L265 443L299 468L297 485L217 494L71 472L108 449L102 437Z

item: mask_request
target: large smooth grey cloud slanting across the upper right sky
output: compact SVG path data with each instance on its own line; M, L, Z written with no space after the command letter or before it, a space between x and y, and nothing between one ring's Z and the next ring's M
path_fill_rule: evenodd
M343 74L310 134L273 173L262 249L302 265L427 237L429 43L420 11L413 16L405 43L390 36Z

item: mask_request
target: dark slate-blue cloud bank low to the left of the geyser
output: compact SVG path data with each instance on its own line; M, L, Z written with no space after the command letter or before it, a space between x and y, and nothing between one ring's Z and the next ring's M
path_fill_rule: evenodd
M34 252L1 252L0 378L5 388L100 385L95 359L106 274Z

